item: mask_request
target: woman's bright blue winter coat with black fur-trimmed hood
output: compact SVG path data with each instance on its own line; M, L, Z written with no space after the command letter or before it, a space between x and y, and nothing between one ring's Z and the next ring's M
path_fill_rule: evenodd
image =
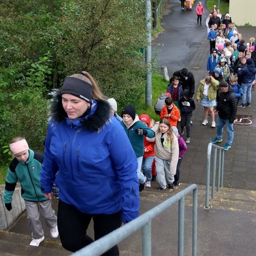
M70 119L55 95L41 173L43 193L55 184L59 198L88 214L123 212L124 223L139 215L137 158L107 101L94 101L90 114Z

